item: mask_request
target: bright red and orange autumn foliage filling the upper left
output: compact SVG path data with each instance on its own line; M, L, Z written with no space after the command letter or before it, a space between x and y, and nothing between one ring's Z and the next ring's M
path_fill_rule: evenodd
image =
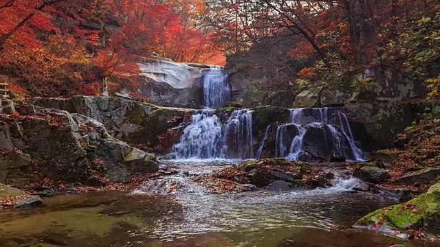
M31 95L98 95L108 77L137 88L140 56L223 63L216 43L195 28L203 1L190 2L195 8L184 1L0 0L0 78Z

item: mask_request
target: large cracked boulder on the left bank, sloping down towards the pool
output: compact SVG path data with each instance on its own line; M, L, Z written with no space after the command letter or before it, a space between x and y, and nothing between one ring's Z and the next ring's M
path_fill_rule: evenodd
M25 186L42 178L100 186L128 182L134 174L158 169L153 154L114 139L96 119L65 110L34 106L32 117L17 116L13 123L23 130L26 152L3 157L0 180ZM3 119L3 121L11 121ZM14 138L21 132L14 131ZM10 162L5 162L10 161Z

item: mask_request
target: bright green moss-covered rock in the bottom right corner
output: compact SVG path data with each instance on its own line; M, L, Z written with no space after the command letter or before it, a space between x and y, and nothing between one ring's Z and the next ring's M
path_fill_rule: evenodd
M380 224L400 230L424 227L432 233L440 233L440 183L432 185L428 192L408 202L378 209L362 217L356 225Z

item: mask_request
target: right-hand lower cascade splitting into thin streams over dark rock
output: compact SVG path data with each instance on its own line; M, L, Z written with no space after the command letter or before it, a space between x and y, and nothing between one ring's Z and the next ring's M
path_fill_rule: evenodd
M320 134L321 153L339 154L352 161L362 161L362 150L358 148L349 121L344 113L334 108L297 108L290 112L288 124L281 124L276 130L276 155L297 160L305 152L305 136ZM325 149L322 150L319 149ZM318 152L317 151L317 152ZM325 155L324 155L325 156Z

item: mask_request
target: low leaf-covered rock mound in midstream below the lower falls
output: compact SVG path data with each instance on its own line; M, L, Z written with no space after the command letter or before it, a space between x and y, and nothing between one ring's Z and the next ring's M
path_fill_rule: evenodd
M194 182L211 193L252 191L257 188L292 189L293 187L331 186L331 172L324 172L301 161L285 158L266 158L245 161L208 175L201 175Z

